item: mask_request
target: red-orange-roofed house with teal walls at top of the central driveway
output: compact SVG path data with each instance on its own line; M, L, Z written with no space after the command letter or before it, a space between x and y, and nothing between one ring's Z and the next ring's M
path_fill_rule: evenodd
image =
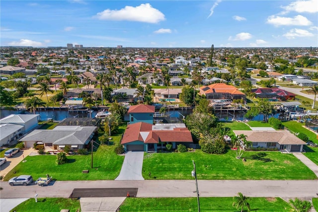
M188 146L193 143L191 132L184 124L150 124L137 122L129 124L122 137L125 151L155 151L166 144L176 148L178 144Z

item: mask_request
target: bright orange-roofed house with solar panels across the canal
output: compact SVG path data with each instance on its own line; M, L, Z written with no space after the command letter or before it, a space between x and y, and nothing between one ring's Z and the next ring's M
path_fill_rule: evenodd
M200 95L205 95L207 99L246 99L246 95L236 87L224 83L215 83L199 88Z

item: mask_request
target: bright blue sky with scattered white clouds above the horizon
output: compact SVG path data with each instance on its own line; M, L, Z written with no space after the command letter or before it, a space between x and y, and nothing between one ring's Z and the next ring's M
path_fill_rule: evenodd
M1 0L1 46L317 47L318 0Z

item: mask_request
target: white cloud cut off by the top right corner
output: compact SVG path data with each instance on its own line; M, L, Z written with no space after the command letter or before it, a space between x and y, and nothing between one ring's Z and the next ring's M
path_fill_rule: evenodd
M281 6L285 11L282 13L288 13L290 11L295 12L318 12L318 0L297 0L291 2L287 6Z

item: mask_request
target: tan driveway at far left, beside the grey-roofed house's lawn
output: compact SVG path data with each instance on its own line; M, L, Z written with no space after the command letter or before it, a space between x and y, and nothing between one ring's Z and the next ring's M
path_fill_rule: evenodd
M5 176L9 171L11 171L16 165L18 165L21 161L23 161L23 156L30 155L34 151L34 148L20 150L17 154L13 157L6 158L6 163L1 165L0 167L0 175Z

